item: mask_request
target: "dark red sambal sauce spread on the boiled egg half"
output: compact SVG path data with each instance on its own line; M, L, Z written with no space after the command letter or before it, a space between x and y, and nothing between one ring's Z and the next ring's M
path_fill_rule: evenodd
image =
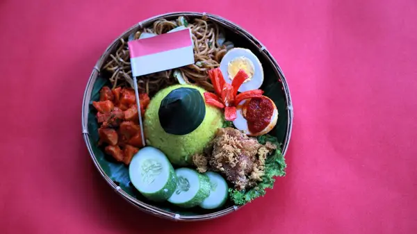
M274 114L274 105L270 99L254 97L247 103L245 119L251 133L259 133L265 129L272 115Z

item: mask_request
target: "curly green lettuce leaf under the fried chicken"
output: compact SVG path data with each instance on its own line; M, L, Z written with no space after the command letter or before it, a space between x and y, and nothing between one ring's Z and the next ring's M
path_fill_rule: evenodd
M238 191L234 188L229 188L229 197L236 205L242 206L246 203L253 201L257 197L261 197L266 194L265 189L274 187L275 176L285 176L286 163L285 158L279 150L281 144L279 144L277 137L271 135L261 135L258 137L258 142L265 144L265 142L271 142L277 145L277 149L272 151L265 161L265 174L262 176L262 181L247 191Z

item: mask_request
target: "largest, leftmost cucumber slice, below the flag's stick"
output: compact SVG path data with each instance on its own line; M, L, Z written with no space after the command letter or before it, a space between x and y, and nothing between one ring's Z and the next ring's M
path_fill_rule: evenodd
M144 147L133 156L129 165L133 186L152 201L165 201L177 187L177 176L165 154L154 147Z

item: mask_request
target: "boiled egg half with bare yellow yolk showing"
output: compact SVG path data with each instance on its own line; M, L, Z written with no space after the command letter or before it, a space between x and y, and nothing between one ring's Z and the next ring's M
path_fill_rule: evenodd
M231 83L234 76L243 69L249 78L240 85L238 92L257 90L263 83L263 68L258 57L249 49L234 48L229 50L220 62L224 81Z

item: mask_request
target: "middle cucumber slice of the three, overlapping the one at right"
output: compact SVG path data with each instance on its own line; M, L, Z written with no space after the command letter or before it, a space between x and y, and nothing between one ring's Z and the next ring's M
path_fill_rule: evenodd
M177 189L168 201L183 208L191 208L202 203L210 194L210 180L208 176L199 174L194 169L179 168L177 174Z

